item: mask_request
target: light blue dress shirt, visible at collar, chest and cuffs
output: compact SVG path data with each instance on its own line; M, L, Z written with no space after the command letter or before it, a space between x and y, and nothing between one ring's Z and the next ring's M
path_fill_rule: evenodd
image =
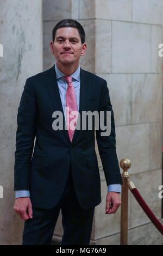
M55 72L57 77L57 83L59 88L59 93L61 97L62 102L62 108L65 115L65 121L66 121L66 89L68 87L68 84L66 83L63 76L65 76L64 73L61 72L60 69L58 69L57 65L55 64ZM71 75L73 86L76 91L76 97L77 97L77 105L78 105L78 111L79 111L79 100L80 100L80 66L78 69ZM119 192L121 193L121 184L111 184L108 186L108 192ZM30 193L28 190L18 190L16 191L16 198L18 197L29 197Z

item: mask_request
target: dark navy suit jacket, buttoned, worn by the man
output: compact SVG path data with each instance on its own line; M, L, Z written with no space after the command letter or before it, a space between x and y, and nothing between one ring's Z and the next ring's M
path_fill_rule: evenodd
M71 164L78 202L83 209L92 208L101 203L95 123L92 130L76 129L71 142L67 130L53 130L54 111L64 116L53 66L28 78L24 86L17 114L14 190L30 190L33 206L51 209L64 192ZM107 83L80 68L80 117L82 111L111 111L110 135L96 130L96 139L107 186L122 184Z

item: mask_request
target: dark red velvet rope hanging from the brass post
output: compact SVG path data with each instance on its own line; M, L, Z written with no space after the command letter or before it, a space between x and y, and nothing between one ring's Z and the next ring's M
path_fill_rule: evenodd
M146 212L146 215L148 216L148 218L152 221L152 223L155 225L155 227L161 232L161 234L163 235L163 225L161 224L161 222L159 222L159 220L155 217L155 215L153 214L153 212L151 211L151 209L149 209L148 205L146 204L145 200L141 197L141 194L139 193L139 191L137 190L137 188L133 188L131 190L131 192L133 193L134 197L136 198L137 202L140 204L141 208L143 209L143 211Z

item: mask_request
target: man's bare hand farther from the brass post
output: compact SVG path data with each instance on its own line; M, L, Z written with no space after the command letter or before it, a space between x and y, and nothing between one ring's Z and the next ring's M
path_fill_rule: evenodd
M29 197L16 198L14 204L14 210L23 221L27 221L29 218L33 218L32 203Z

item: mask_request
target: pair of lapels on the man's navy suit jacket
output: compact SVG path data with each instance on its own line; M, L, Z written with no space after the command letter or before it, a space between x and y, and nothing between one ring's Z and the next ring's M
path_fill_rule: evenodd
M47 89L49 92L49 96L51 97L54 109L57 109L57 111L61 111L62 116L64 117L64 111L62 108L54 66L51 69L47 70L46 72L46 84L47 84ZM91 87L90 85L91 83L89 82L89 77L87 76L86 71L80 68L80 102L79 102L80 118L82 118L82 111L86 111L87 102L90 94L90 87ZM65 118L64 118L64 127L67 127ZM76 129L74 131L73 139L71 142L70 137L68 135L68 131L64 129L63 132L65 134L66 139L68 139L68 142L70 142L70 144L73 144L75 139L79 135L79 130Z

